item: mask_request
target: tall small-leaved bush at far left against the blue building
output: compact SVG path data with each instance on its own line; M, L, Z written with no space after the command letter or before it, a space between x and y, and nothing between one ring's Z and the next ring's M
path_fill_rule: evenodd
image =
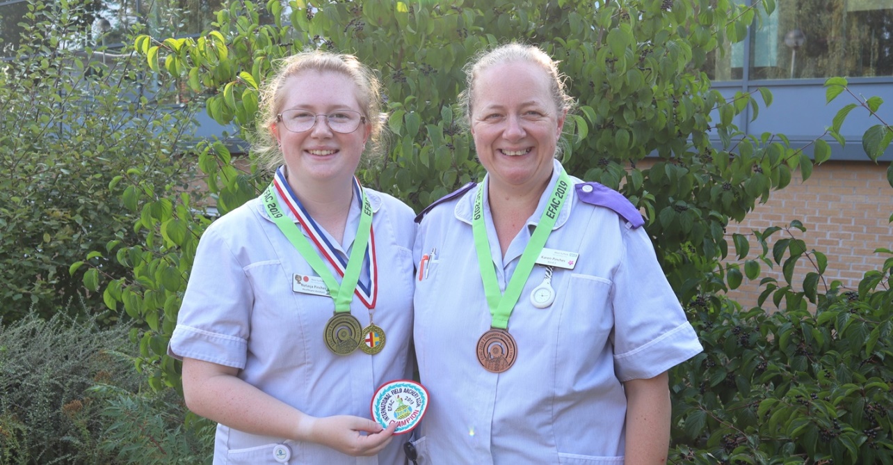
M159 96L129 50L71 48L87 38L91 4L31 2L22 19L27 36L0 65L0 301L11 304L0 314L7 322L28 309L42 317L79 310L66 305L78 296L88 311L104 309L96 285L87 292L81 285L83 270L69 269L89 257L88 283L126 270L103 258L115 241L143 239L134 229L138 212L121 197L121 176L185 185L193 166L177 148L190 108L152 102Z

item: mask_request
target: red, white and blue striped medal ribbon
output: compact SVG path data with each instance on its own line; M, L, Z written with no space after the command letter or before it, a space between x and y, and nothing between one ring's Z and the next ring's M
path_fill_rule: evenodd
M280 197L286 200L286 205L288 206L288 209L291 210L291 213L297 218L297 222L301 224L301 227L303 227L307 232L307 235L310 236L313 244L320 250L322 257L326 258L329 263L338 270L339 275L344 276L347 268L347 260L342 258L341 255L335 251L335 248L331 245L329 239L327 239L326 234L322 232L321 227L313 221L313 218L307 213L304 206L301 205L301 201L297 199L295 193L292 192L291 188L288 186L288 182L285 179L285 171L282 167L276 171L273 183L276 186L276 190L279 191ZM363 197L360 182L357 181L356 178L354 178L354 191L357 199ZM379 282L378 258L375 253L374 228L370 231L370 244L371 247L366 249L366 259L369 260L369 285L366 286L362 282L357 282L355 294L367 309L374 309L375 302L378 298Z

